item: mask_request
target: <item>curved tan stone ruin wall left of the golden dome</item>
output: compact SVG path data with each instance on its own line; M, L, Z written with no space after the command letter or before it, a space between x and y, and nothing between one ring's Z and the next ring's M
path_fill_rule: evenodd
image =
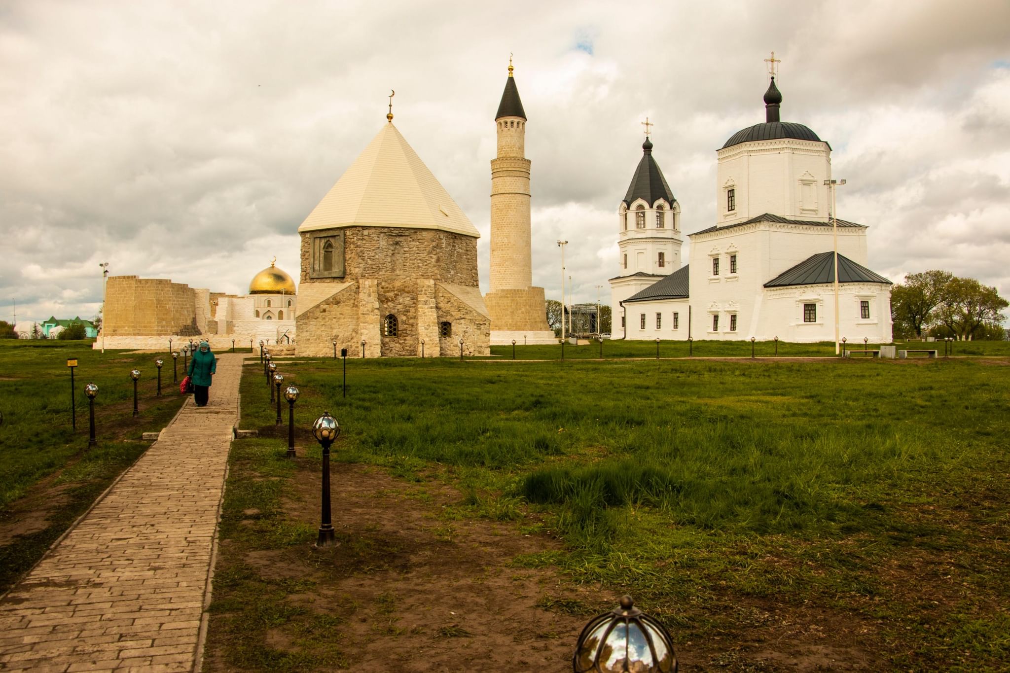
M165 278L106 281L105 336L197 336L207 328L210 293Z

